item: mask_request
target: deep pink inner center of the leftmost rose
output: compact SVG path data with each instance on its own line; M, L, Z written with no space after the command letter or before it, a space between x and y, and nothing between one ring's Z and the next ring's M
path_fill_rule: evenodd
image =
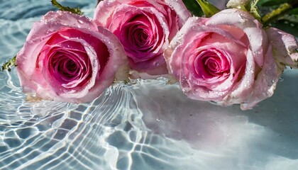
M90 54L85 47L93 49ZM97 55L99 75L109 59L109 51L103 42L92 35L74 28L64 28L54 33L45 43L40 57L43 59L45 79L59 90L79 90L92 77L92 63L89 55ZM57 88L60 86L60 88Z

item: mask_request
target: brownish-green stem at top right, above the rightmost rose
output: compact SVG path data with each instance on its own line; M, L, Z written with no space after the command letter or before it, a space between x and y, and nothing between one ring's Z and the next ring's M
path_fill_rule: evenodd
M280 5L279 8L271 11L270 13L267 13L262 18L264 26L268 26L270 23L272 23L272 21L275 21L275 19L280 18L280 16L283 16L287 11L289 11L292 8L292 5L285 3Z

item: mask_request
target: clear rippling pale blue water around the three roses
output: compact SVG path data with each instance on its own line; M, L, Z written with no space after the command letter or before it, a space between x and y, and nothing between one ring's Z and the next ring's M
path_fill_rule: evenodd
M62 1L92 16L95 1ZM0 0L0 64L48 0ZM298 72L253 110L192 101L165 79L111 86L91 103L26 101L0 72L0 169L298 169Z

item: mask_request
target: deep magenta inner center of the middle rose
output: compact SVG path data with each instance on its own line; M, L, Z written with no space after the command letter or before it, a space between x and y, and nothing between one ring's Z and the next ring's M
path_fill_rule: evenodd
M131 18L122 28L120 41L133 62L144 62L158 55L154 51L163 40L163 30L158 22L155 15L145 13Z

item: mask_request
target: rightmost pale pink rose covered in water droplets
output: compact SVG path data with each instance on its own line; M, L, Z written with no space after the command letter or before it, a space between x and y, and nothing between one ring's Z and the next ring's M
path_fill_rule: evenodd
M184 94L249 109L272 96L285 65L297 67L292 35L263 26L236 8L211 18L192 17L165 51Z

